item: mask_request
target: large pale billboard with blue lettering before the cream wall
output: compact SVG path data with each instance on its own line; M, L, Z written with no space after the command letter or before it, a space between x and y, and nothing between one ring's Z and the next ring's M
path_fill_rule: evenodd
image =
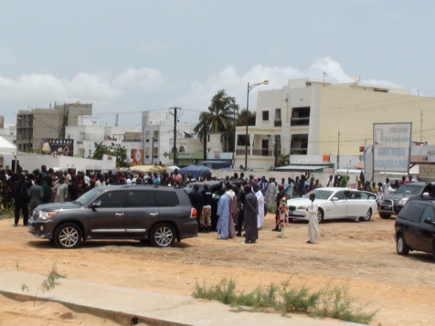
M373 171L408 173L412 122L373 124Z

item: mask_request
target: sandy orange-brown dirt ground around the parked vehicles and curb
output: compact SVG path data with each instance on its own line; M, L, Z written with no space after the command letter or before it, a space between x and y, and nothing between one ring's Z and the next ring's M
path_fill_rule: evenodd
M214 285L223 278L235 279L238 289L245 290L286 279L313 289L333 282L348 287L357 302L369 302L368 310L378 310L372 325L433 324L435 263L424 253L398 256L394 223L378 216L370 222L325 222L322 238L312 245L305 243L306 223L290 224L287 238L281 239L271 232L274 217L268 215L255 245L241 244L239 237L221 241L210 233L165 249L135 241L90 241L79 249L60 250L48 240L29 235L27 227L14 227L12 219L2 219L0 268L48 275L56 264L68 279L183 296L192 294L196 281ZM25 310L25 303L5 298L0 302L2 325L14 324L8 323L10 316L30 318L28 324L35 320L71 324L59 320L64 313L60 305ZM91 316L80 318L83 322L77 324L111 325L90 321Z

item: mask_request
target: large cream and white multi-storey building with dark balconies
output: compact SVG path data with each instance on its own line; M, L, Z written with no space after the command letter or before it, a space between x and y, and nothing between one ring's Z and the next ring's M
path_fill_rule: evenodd
M281 154L289 163L303 156L358 156L373 140L373 124L412 122L412 139L435 142L435 99L359 82L332 84L319 79L292 79L281 89L259 90L255 126L236 128L236 163L267 170ZM335 169L340 168L339 159Z

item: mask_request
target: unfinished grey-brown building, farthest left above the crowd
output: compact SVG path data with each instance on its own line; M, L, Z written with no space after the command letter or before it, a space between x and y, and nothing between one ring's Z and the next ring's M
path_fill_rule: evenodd
M53 109L19 110L16 116L16 146L20 152L40 149L42 139L65 139L66 127L79 126L80 116L91 115L92 104L55 103Z

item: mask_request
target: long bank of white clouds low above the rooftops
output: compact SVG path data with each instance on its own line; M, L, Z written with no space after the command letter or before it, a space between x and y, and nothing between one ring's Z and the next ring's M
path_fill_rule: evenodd
M289 79L323 79L324 72L326 79L336 83L355 80L332 58L319 58L306 69L257 65L239 73L228 65L204 80L177 81L172 77L171 82L166 82L164 73L157 68L127 68L117 76L111 76L110 72L80 72L72 79L60 79L49 74L29 74L18 79L0 76L0 107L17 111L27 107L48 108L54 101L80 100L93 103L94 113L99 116L101 113L129 113L177 106L186 109L182 121L197 121L199 112L207 110L219 89L225 89L229 96L236 98L240 109L244 109L248 82L252 84L268 79L269 85L261 85L249 92L249 110L255 110L260 89L281 89ZM387 80L364 79L361 82L398 87ZM126 121L129 125L137 121L133 116L125 116L125 119L132 120Z

